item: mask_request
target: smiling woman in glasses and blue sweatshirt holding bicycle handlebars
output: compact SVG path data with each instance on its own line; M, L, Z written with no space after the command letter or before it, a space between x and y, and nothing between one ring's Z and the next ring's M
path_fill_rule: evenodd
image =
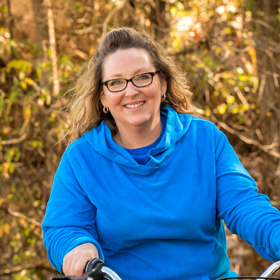
M194 117L182 77L147 35L105 34L77 84L72 144L43 222L49 259L66 275L99 257L124 280L235 276L222 220L280 258L279 211L225 135Z

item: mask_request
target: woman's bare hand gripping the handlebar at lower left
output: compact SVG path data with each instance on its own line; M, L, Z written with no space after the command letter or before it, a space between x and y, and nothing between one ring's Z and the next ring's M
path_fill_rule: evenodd
M62 270L66 276L82 277L86 263L94 258L99 258L96 247L92 243L81 244L65 255Z

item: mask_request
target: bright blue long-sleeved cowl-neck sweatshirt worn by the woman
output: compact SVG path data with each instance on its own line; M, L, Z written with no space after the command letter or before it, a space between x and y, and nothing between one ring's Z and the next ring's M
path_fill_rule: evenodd
M123 280L207 280L229 270L222 220L268 260L280 258L280 214L258 194L215 125L165 106L145 165L103 122L65 151L43 222L51 263L91 242Z

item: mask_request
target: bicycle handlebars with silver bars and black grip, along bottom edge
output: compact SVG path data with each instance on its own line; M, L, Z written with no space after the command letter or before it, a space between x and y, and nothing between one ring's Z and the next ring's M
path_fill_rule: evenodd
M230 280L230 279L274 279L280 280L277 277L271 277L277 270L280 269L280 261L270 265L261 276L236 276L236 277L226 277L217 280ZM72 276L59 276L52 277L52 280L122 280L116 272L109 268L102 260L93 259L89 261L85 267L84 275L82 277L72 277Z

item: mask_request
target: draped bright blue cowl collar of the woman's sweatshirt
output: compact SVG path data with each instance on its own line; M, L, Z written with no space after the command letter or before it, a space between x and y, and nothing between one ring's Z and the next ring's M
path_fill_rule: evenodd
M190 115L178 114L170 106L163 107L161 115L166 118L164 135L158 145L148 152L150 160L146 165L138 164L125 148L113 140L111 130L104 121L85 133L84 137L96 152L122 165L128 172L148 175L154 173L174 151L175 144L187 133L192 120Z

